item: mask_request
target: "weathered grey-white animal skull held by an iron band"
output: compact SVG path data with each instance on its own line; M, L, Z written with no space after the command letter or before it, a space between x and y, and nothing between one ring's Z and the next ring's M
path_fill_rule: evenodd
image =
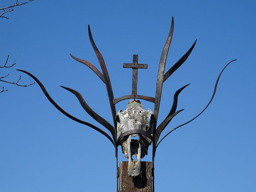
M153 136L154 114L148 109L147 111L137 99L129 101L124 111L120 110L116 115L117 136L130 130L142 130ZM138 140L132 137L138 136ZM128 138L121 140L122 152L124 157L128 158L128 175L139 176L141 174L141 158L147 155L151 140L141 134L131 134ZM136 155L137 160L132 159Z

